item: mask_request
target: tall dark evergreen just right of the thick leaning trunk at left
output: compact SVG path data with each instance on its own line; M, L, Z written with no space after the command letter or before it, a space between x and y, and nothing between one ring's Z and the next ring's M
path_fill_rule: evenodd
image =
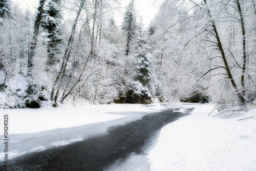
M41 27L47 31L48 38L48 66L54 65L58 59L55 54L59 52L58 45L61 42L59 25L61 0L48 0L45 5L45 12L41 21Z

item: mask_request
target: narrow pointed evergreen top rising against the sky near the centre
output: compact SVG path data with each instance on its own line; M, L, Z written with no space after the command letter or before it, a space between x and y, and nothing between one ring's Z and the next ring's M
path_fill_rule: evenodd
M126 7L126 11L123 18L122 29L127 36L125 55L129 55L130 48L133 45L135 37L137 36L138 23L136 21L136 12L132 2Z

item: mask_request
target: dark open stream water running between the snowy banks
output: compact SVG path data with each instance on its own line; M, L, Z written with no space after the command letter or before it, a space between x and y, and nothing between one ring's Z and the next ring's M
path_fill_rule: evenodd
M146 115L111 127L105 135L17 157L9 161L8 169L1 165L0 170L103 170L117 159L142 153L157 131L187 114L165 110Z

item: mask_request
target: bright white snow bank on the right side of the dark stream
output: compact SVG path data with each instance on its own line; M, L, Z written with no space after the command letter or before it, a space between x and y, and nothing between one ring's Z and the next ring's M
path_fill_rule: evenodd
M191 115L161 129L147 155L150 169L256 170L256 120L208 117L213 105L194 107Z

